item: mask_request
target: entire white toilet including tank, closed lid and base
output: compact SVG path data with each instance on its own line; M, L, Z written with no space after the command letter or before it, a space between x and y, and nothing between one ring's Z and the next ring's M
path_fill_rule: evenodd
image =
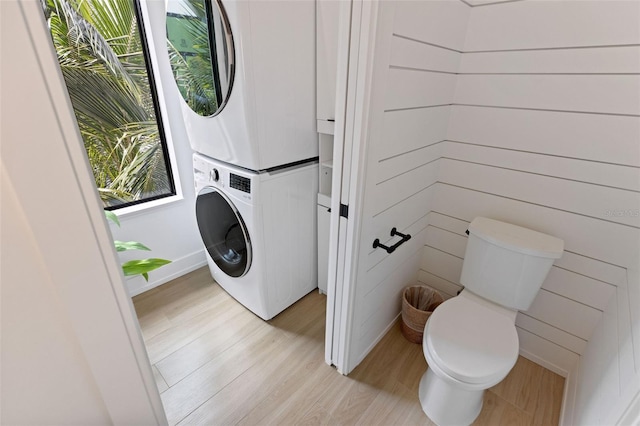
M464 290L433 312L422 340L428 368L420 404L440 426L471 424L485 389L511 371L519 350L516 314L529 309L564 249L559 238L484 217L468 234Z

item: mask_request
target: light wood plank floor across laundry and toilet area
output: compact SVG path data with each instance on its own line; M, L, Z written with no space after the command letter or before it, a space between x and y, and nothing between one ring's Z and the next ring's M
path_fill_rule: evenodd
M348 377L324 363L326 298L271 321L228 296L207 268L136 296L171 425L431 425L418 401L421 345L394 327ZM564 379L519 358L485 393L477 425L556 425Z

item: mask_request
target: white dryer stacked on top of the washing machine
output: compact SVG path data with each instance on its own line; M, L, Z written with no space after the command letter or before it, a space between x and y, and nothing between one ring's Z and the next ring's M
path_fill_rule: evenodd
M172 3L167 11L170 32L179 34L175 28L179 22L192 26L204 19L208 22L197 25L209 32L211 48L202 54L205 62L230 61L218 67L224 78L216 79L214 75L212 80L218 82L212 86L223 92L230 87L228 98L213 102L221 108L194 107L198 111L195 112L180 99L191 147L208 157L250 170L317 157L315 2L170 0L168 4ZM183 12L182 19L176 17L181 5L182 9L185 4L194 9L195 3L207 13L198 12L202 16L196 17L198 13ZM171 34L169 37L171 41ZM177 44L176 37L179 36L173 36L171 46ZM184 58L200 55L188 48L192 44L189 40L188 36L180 39L187 45ZM233 52L221 53L228 49ZM176 57L175 49L173 55ZM189 61L184 58L182 62L187 64ZM173 61L176 60L180 59ZM193 59L192 62L199 64ZM217 68L213 68L215 74ZM174 76L180 81L181 92L185 92L183 74ZM225 81L227 86L222 84Z

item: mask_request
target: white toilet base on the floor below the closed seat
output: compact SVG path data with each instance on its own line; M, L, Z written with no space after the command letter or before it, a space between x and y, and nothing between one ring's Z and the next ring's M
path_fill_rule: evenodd
M431 368L420 379L422 411L438 426L470 425L482 410L484 389L467 390L438 377Z

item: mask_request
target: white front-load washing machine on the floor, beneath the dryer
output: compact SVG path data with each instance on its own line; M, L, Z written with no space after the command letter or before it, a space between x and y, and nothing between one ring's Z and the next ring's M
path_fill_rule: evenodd
M196 217L216 282L268 320L317 287L317 162L256 173L193 155Z

